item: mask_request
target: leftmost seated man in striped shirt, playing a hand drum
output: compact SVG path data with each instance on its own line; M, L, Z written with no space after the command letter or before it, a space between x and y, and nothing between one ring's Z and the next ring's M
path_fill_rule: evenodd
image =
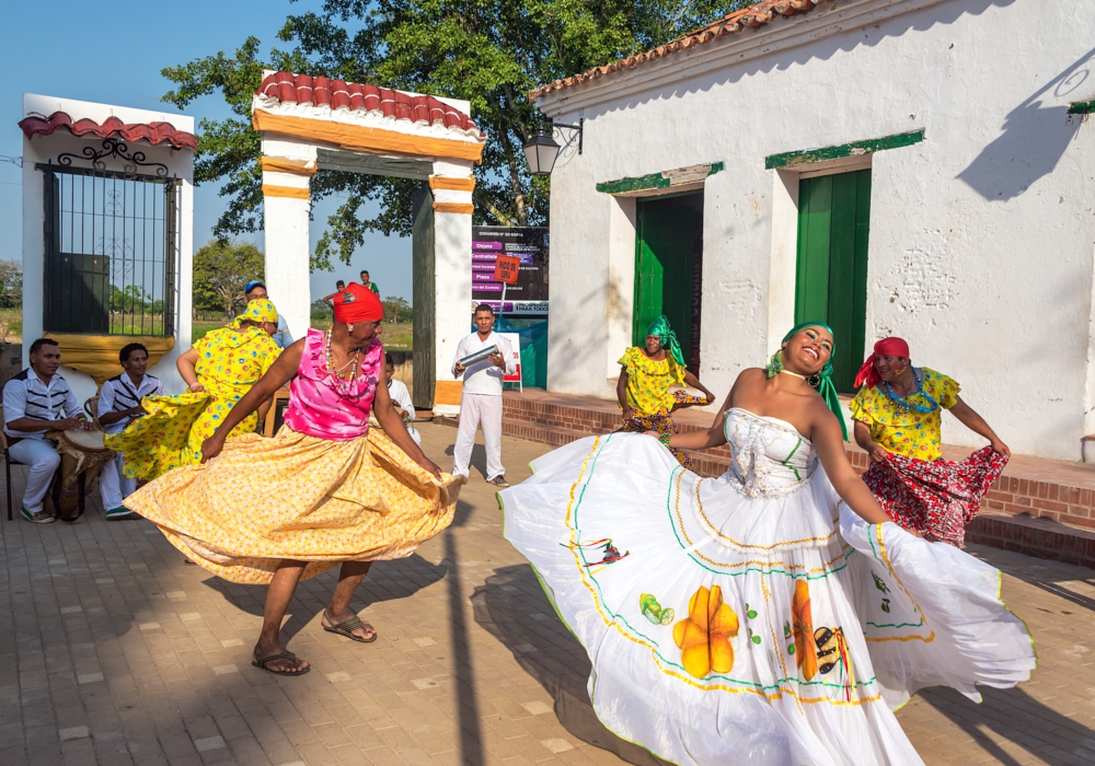
M3 387L3 431L8 453L31 466L20 513L35 524L49 524L54 517L42 506L49 483L61 463L57 448L46 431L94 431L95 426L80 411L80 405L65 379L57 374L61 350L56 340L38 338L31 344L31 367Z

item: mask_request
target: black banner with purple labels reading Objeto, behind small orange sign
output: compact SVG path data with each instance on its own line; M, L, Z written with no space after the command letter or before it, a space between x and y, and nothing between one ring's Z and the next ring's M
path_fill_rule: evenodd
M516 280L506 281L502 305L503 269L516 266ZM506 271L506 274L511 274ZM512 277L510 277L512 278ZM504 314L548 313L548 229L538 227L472 227L472 300Z

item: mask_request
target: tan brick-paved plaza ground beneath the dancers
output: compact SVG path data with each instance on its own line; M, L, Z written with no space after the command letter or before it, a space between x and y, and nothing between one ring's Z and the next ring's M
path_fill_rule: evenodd
M456 430L420 431L451 465ZM504 451L520 480L544 448ZM313 663L301 678L251 668L264 589L217 580L148 522L106 523L91 506L73 525L0 522L2 766L656 763L598 723L585 652L503 539L481 474L450 530L373 568L356 606L376 643L320 628L333 572L301 583L285 628ZM1006 572L1040 668L980 706L922 693L902 726L932 765L1095 763L1095 571L971 553Z

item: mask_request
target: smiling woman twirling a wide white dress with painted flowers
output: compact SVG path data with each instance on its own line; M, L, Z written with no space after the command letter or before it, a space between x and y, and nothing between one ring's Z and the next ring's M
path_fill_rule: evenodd
M705 479L644 434L591 437L499 492L592 663L618 735L679 764L922 764L892 710L924 686L1029 677L1000 572L889 521L844 455L834 340L795 327L744 371L707 431ZM821 395L819 395L821 394Z

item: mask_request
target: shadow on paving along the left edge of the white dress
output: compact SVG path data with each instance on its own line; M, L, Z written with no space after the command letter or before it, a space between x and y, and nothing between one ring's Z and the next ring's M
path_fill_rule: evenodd
M498 569L472 595L475 622L509 647L517 662L555 700L555 716L575 738L637 766L665 764L604 728L589 704L589 658L558 619L528 565Z

